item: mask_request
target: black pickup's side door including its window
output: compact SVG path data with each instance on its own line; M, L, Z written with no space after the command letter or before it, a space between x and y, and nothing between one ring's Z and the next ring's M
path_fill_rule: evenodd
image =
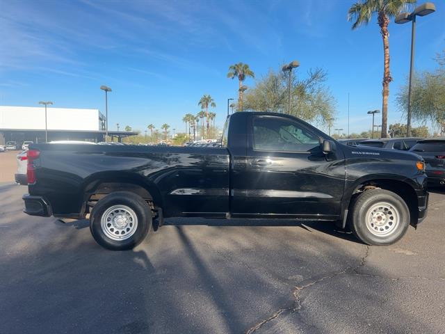
M323 154L320 136L304 122L254 113L247 122L245 164L232 165L232 214L336 218L343 152Z

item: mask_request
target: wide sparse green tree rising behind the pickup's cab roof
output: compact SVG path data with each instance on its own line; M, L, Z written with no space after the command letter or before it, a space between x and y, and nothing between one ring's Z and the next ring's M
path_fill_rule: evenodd
M321 69L309 70L305 79L294 78L291 82L291 96L296 101L296 107L291 110L293 116L323 125L334 117L336 102L324 86L326 78L327 73ZM281 70L269 70L245 95L245 109L284 113L288 104L288 84Z

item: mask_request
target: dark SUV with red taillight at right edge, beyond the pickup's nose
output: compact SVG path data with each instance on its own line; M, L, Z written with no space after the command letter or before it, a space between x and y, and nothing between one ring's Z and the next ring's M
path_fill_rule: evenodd
M426 175L431 186L445 186L445 138L423 139L411 148L426 163Z

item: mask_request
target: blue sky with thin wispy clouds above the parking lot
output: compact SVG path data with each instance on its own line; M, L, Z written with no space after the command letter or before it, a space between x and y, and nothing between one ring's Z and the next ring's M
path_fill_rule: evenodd
M422 3L423 1L419 1ZM0 104L98 108L110 86L109 128L145 129L167 122L184 131L185 113L200 111L210 94L217 124L236 97L227 79L232 63L248 63L257 77L297 59L296 74L323 67L337 99L335 127L371 127L366 111L381 109L382 38L376 20L351 31L353 1L9 1L0 0ZM445 1L419 17L416 70L436 66L445 48ZM389 122L404 121L394 103L407 76L410 24L391 22ZM252 86L254 81L245 81ZM380 120L376 123L380 124Z

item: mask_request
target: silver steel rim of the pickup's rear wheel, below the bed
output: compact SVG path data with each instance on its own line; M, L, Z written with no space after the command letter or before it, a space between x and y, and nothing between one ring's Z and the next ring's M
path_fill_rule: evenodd
M138 216L125 205L113 205L102 214L100 227L106 237L122 241L131 237L138 228Z

